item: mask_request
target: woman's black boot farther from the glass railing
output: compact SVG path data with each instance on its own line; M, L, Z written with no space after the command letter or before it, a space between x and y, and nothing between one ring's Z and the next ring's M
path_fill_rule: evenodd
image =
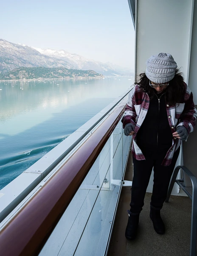
M160 216L160 209L157 209L150 205L150 218L152 219L153 227L155 231L162 235L165 233L165 225Z

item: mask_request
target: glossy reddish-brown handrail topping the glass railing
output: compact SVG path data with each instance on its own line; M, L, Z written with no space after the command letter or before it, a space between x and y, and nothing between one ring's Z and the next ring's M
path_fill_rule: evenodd
M120 103L0 232L3 256L38 255L124 113Z

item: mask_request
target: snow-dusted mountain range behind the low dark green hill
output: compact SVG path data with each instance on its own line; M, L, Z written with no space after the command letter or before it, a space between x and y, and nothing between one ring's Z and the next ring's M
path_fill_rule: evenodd
M132 75L128 68L109 62L90 60L65 50L39 49L0 39L0 73L7 73L20 67L65 67L74 70L94 70L104 76Z

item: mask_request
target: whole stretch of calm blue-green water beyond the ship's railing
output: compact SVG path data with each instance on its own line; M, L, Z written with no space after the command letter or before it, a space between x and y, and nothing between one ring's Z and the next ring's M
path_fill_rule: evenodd
M0 189L101 111L131 78L0 82Z

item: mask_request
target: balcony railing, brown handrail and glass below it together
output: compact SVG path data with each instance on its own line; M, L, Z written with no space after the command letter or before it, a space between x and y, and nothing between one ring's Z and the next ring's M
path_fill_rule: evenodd
M107 254L121 187L132 184L124 181L132 138L121 123L130 90L3 218L2 255Z

